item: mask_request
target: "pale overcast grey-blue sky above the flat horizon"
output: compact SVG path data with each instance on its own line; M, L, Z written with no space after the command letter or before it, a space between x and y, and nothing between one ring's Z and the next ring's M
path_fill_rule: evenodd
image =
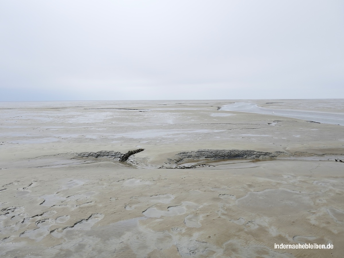
M0 101L344 98L342 0L0 0Z

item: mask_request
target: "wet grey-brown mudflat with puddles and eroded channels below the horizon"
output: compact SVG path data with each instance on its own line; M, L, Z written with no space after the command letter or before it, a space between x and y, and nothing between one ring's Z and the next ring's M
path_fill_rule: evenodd
M341 257L343 117L340 99L2 102L0 256ZM275 248L299 243L333 249Z

